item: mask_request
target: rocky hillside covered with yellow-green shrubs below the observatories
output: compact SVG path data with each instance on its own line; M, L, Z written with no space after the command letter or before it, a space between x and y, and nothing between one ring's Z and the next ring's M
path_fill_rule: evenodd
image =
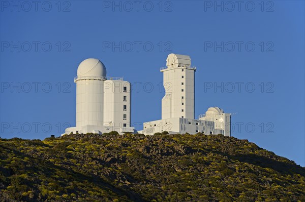
M305 168L223 135L0 139L0 201L305 201Z

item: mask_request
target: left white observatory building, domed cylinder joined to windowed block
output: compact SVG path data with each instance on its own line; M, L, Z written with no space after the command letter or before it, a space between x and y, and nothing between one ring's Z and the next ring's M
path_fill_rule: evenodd
M98 59L82 61L77 68L76 127L70 133L134 133L131 123L131 85L122 77L107 77ZM63 134L64 135L64 134Z

